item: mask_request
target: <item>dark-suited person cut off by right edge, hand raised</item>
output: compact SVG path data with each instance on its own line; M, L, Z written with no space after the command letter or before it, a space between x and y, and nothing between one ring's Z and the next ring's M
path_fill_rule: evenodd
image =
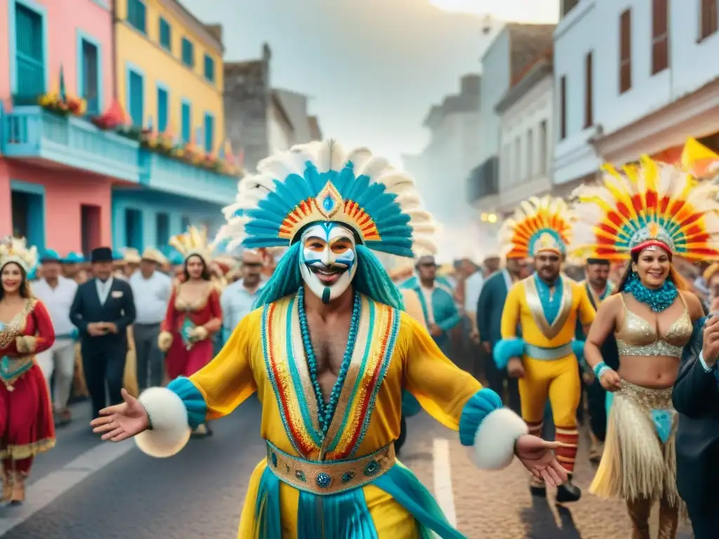
M707 320L702 349L684 361L672 401L677 428L677 489L696 539L719 537L719 316ZM692 338L692 342L698 339Z

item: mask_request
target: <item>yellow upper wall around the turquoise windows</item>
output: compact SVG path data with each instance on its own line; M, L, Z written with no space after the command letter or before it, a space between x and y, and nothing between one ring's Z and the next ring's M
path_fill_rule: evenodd
M221 55L204 45L194 32L180 22L177 17L162 9L156 0L145 0L147 34L142 34L132 27L127 18L127 0L115 0L116 16L116 83L117 93L123 109L129 114L127 73L128 68L139 71L145 86L144 121L152 118L157 127L157 83L169 89L168 126L176 137L180 137L182 129L181 106L183 99L191 103L192 130L191 137L195 142L198 127L204 129L205 113L214 116L214 149L219 149L224 142L224 67ZM165 19L171 28L172 53L160 47L160 17ZM195 48L195 66L189 68L182 63L182 38L187 37ZM204 77L205 54L214 59L215 80L210 83ZM200 141L200 145L204 140Z

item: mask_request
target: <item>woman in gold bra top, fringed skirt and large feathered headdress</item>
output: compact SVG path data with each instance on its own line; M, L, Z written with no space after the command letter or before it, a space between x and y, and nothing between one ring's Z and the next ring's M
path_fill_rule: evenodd
M623 174L607 168L603 183L576 191L577 249L629 262L615 295L597 311L585 359L613 392L605 449L590 492L625 499L635 533L648 533L649 510L660 501L659 537L674 537L682 500L676 487L672 385L703 311L679 276L673 257L719 257L717 188L644 157ZM602 360L614 333L620 367Z

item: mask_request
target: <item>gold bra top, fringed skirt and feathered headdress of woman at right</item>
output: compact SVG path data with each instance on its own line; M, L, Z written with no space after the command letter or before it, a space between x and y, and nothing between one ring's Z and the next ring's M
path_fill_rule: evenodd
M628 262L645 249L701 261L719 255L717 188L698 184L688 172L642 157L623 174L606 167L601 185L585 185L575 195L575 249L588 257ZM638 277L630 277L636 279ZM626 293L620 288L624 302ZM681 315L660 334L654 324L623 303L623 323L615 331L620 362L670 357L680 361L694 328L684 297ZM660 505L660 538L674 538L682 500L676 486L674 434L677 414L672 388L640 387L625 380L613 393L605 449L590 492L624 499L634 535L649 537L649 510Z

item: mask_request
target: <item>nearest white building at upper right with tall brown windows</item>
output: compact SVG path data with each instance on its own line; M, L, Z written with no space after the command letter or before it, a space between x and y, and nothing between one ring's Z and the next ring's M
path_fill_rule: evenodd
M564 0L554 182L719 131L716 0ZM713 144L710 144L713 146Z

